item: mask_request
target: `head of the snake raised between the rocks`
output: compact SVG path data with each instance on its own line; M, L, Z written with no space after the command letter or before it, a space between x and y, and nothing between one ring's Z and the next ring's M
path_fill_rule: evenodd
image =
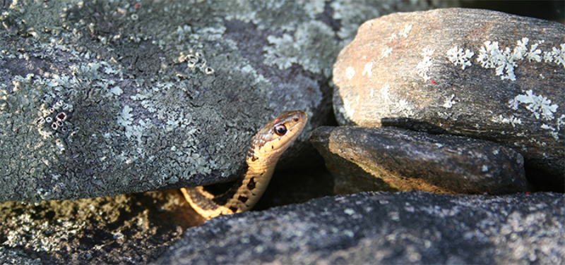
M296 140L306 126L308 115L304 111L285 111L257 132L249 146L248 159L269 157L278 159Z

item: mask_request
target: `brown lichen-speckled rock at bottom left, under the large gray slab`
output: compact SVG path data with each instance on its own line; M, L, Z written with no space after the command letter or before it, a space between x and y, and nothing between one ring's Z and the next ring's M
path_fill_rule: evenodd
M148 264L203 223L178 190L0 203L0 264Z

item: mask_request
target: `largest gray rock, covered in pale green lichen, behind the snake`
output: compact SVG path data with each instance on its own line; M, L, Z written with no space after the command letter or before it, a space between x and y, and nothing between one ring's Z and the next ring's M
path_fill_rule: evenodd
M315 152L332 63L359 24L426 3L7 1L0 201L234 179L256 130L302 109L310 125L281 161L295 166Z

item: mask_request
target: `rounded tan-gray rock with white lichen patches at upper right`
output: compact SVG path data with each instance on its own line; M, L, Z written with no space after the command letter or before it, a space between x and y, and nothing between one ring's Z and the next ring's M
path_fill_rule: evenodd
M463 8L369 20L333 68L338 123L490 140L521 152L531 181L565 185L564 35Z

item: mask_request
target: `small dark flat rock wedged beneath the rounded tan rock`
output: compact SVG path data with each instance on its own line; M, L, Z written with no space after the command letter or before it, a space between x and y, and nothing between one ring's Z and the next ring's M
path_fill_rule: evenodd
M339 193L381 188L499 195L525 192L528 184L521 154L493 142L398 128L327 126L314 130L310 141L326 160ZM349 166L335 166L340 164Z

